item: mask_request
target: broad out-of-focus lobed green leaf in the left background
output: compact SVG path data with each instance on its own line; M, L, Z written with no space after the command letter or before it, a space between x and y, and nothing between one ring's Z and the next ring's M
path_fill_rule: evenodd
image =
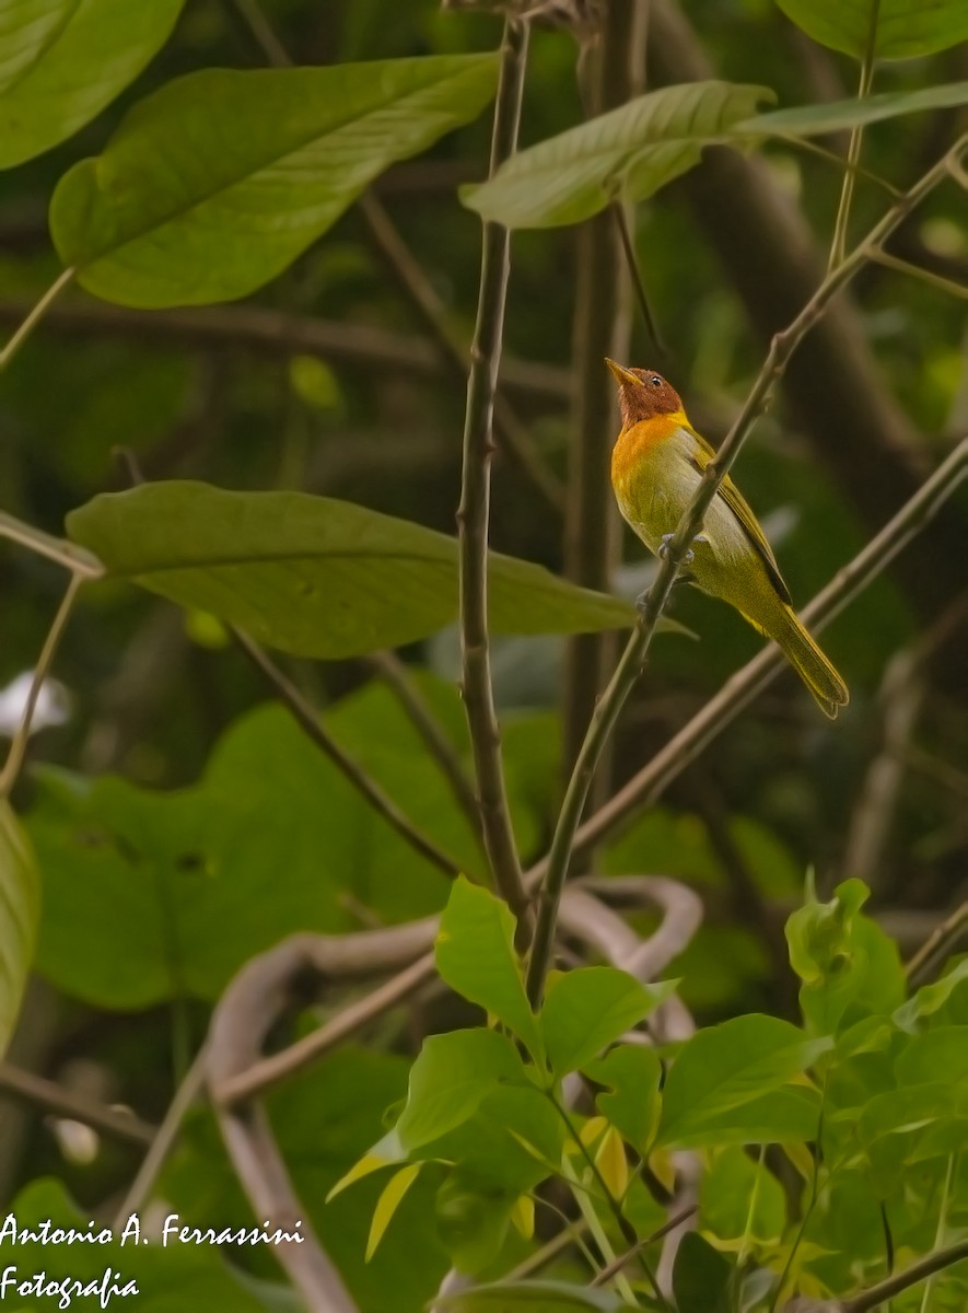
M392 695L367 685L324 723L414 825L476 869L471 826ZM273 705L236 721L189 789L46 772L29 829L45 877L38 968L114 1010L214 1001L286 935L355 930L361 907L388 923L429 915L449 888Z

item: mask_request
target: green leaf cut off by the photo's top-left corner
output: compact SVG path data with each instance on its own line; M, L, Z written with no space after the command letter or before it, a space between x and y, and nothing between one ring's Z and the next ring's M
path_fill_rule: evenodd
M0 168L63 142L168 39L185 0L0 4Z

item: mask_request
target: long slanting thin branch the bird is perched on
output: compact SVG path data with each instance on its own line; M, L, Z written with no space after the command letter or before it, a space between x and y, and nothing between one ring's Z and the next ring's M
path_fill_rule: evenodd
M902 223L906 215L948 176L951 160L960 158L960 152L968 143L968 134L960 138L955 146L947 151L942 159L934 164L909 192L906 192L893 205L887 214L868 232L867 238L845 259L836 269L832 269L807 305L800 310L792 323L782 332L775 334L770 343L766 360L757 376L756 382L735 420L725 441L716 458L707 465L703 478L686 508L679 524L668 544L668 550L661 558L655 582L644 599L641 599L639 621L632 630L624 653L622 654L611 683L602 700L595 708L588 735L575 763L572 777L568 781L561 813L555 827L555 835L548 852L548 864L538 902L538 919L534 934L534 945L527 970L527 995L533 1007L538 1007L544 991L544 977L551 965L551 949L555 939L557 923L557 909L561 901L561 890L568 876L568 867L575 853L575 840L581 814L585 807L589 785L594 775L601 751L607 742L622 708L635 685L643 662L652 642L652 635L662 614L673 584L678 576L679 566L690 549L696 533L700 532L703 516L706 515L720 483L725 478L729 467L736 460L742 444L746 441L754 421L766 408L771 394L783 377L791 356L822 316L833 297L847 282L870 263L876 251L891 234ZM947 463L947 462L946 462ZM762 654L761 654L762 655ZM613 804L615 800L613 800ZM611 805L611 804L610 804ZM605 809L603 809L605 810ZM588 832L588 831L586 831ZM582 848L585 843L582 842Z

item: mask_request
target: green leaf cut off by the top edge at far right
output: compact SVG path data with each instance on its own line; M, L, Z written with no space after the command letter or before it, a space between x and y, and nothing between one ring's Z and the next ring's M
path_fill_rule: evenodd
M863 59L871 0L776 0L797 28L830 50ZM916 59L968 39L964 0L880 0L876 59Z

